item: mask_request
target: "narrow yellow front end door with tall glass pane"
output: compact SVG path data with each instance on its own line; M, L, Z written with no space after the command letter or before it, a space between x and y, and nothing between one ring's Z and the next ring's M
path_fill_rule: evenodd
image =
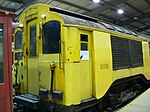
M27 24L27 76L28 76L28 93L38 95L39 78L38 78L38 25L37 19Z

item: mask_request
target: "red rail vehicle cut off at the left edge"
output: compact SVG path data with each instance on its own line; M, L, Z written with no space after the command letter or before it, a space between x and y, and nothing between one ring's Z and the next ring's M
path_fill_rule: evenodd
M0 112L13 112L12 17L0 11Z

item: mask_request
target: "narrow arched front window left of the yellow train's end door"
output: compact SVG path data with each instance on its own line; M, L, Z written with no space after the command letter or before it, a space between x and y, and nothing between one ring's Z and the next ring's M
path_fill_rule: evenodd
M22 31L15 33L15 49L22 49Z

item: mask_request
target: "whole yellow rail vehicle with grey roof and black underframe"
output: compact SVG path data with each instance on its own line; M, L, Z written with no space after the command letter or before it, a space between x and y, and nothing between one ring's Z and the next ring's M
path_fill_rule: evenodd
M149 85L147 37L44 4L25 9L19 22L15 102L27 109L100 111Z

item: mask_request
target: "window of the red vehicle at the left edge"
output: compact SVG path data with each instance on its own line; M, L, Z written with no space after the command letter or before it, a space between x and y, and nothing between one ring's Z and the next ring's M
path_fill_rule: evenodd
M4 36L3 25L0 24L0 83L4 83Z

